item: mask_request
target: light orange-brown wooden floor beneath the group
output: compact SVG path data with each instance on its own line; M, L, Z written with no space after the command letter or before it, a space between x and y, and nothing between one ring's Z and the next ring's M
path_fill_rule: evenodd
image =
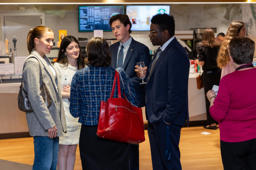
M203 135L202 132L209 132ZM181 165L183 170L223 170L220 152L219 129L183 127L180 136ZM148 131L140 144L140 170L152 170ZM23 164L33 164L33 138L0 140L0 159ZM75 170L81 170L79 148L76 152Z

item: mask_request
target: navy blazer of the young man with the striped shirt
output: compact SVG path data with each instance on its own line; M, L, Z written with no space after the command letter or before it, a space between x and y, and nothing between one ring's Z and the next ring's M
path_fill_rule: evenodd
M111 51L111 67L116 68L117 62L117 53L120 42L116 42L110 45ZM123 68L125 73L128 75L131 83L137 93L138 96L138 107L142 108L145 106L145 85L140 85L142 80L140 77L137 77L136 72L134 71L137 62L144 62L146 67L149 67L151 62L151 56L149 54L149 49L146 45L135 41L133 38L131 40L131 45L127 51L125 56L125 61L123 64Z

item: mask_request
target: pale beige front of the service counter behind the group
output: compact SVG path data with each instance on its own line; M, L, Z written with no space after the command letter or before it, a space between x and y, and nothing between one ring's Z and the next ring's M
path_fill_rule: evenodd
M189 120L206 120L204 88L197 89L196 77L198 73L189 74ZM0 84L0 134L28 132L26 113L18 109L17 97L20 82ZM143 108L143 121L145 108Z

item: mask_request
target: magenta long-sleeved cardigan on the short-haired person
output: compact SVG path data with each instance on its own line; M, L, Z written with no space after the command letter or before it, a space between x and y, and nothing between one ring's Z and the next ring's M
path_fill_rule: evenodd
M213 104L209 110L219 122L221 141L256 138L256 68L224 76Z

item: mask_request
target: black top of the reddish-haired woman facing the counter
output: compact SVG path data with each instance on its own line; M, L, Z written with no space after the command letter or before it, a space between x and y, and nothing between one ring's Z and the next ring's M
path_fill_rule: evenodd
M197 45L196 50L198 51L198 61L204 61L204 69L215 69L217 66L218 48L210 48L203 45Z

